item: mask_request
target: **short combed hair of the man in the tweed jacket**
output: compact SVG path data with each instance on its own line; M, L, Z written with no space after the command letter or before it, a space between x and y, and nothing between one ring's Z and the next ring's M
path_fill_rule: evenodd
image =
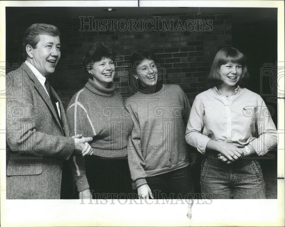
M36 44L40 41L38 35L49 35L49 36L59 36L59 29L51 24L32 24L27 28L23 38L23 57L26 59L28 54L26 51L26 46L31 45L32 48L36 48Z

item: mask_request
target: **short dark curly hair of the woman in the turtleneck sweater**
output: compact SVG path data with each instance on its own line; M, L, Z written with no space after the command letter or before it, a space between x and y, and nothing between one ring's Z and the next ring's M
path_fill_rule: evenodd
M88 72L88 69L92 69L94 62L101 61L104 57L111 58L113 61L115 61L116 51L107 42L93 43L89 47L87 53L84 55L84 69L86 69L86 71Z

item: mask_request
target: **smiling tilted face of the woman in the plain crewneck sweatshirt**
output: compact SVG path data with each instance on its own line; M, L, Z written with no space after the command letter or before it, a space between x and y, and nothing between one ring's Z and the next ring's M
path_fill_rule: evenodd
M136 68L136 75L144 87L155 85L157 82L157 69L154 61L144 59Z

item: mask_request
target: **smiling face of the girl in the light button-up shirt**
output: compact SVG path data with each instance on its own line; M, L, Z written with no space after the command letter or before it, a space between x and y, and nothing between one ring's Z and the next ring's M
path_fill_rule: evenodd
M237 82L241 79L243 67L241 64L228 62L220 67L220 76L223 80L223 86L236 88Z

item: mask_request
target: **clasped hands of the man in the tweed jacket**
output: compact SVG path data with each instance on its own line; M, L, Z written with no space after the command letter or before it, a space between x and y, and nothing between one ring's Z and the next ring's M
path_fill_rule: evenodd
M82 137L82 134L74 135L71 138L75 141L74 146L74 153L76 155L92 155L93 149L88 143L89 141L92 141L92 137Z

